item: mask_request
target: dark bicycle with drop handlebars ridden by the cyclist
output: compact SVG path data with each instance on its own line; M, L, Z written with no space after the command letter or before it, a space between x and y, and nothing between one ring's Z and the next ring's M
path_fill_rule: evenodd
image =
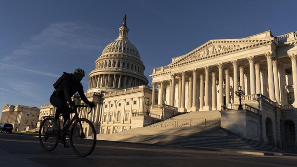
M58 142L64 143L66 146L66 136L70 129L70 145L74 153L80 157L90 155L96 146L96 130L93 123L86 118L79 118L77 109L79 107L90 107L85 105L75 105L67 113L74 113L70 123L61 130L60 121L58 121L59 130L55 131L52 127L53 116L43 116L39 128L39 141L41 147L46 151L52 151L56 148ZM88 114L92 111L88 112ZM63 116L63 115L60 115Z

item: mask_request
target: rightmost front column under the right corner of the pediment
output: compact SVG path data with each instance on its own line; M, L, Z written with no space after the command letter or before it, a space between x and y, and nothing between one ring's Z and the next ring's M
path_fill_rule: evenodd
M269 87L269 99L276 101L275 99L275 90L274 90L274 79L273 79L273 67L272 67L272 57L274 54L272 52L265 53L267 59L267 68L268 68L268 87Z

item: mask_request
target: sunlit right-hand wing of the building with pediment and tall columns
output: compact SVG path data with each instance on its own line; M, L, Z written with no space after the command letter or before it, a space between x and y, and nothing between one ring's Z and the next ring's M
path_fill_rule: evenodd
M153 69L152 87L158 86L159 95L152 109L166 103L179 112L220 110L222 127L243 137L297 145L296 72L297 32L210 40ZM245 110L237 109L239 86L246 93Z

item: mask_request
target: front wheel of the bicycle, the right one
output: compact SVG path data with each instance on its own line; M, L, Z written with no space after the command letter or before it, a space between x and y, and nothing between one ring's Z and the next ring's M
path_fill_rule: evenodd
M75 154L80 157L86 157L93 152L96 146L96 130L90 120L80 118L73 123L70 144Z

